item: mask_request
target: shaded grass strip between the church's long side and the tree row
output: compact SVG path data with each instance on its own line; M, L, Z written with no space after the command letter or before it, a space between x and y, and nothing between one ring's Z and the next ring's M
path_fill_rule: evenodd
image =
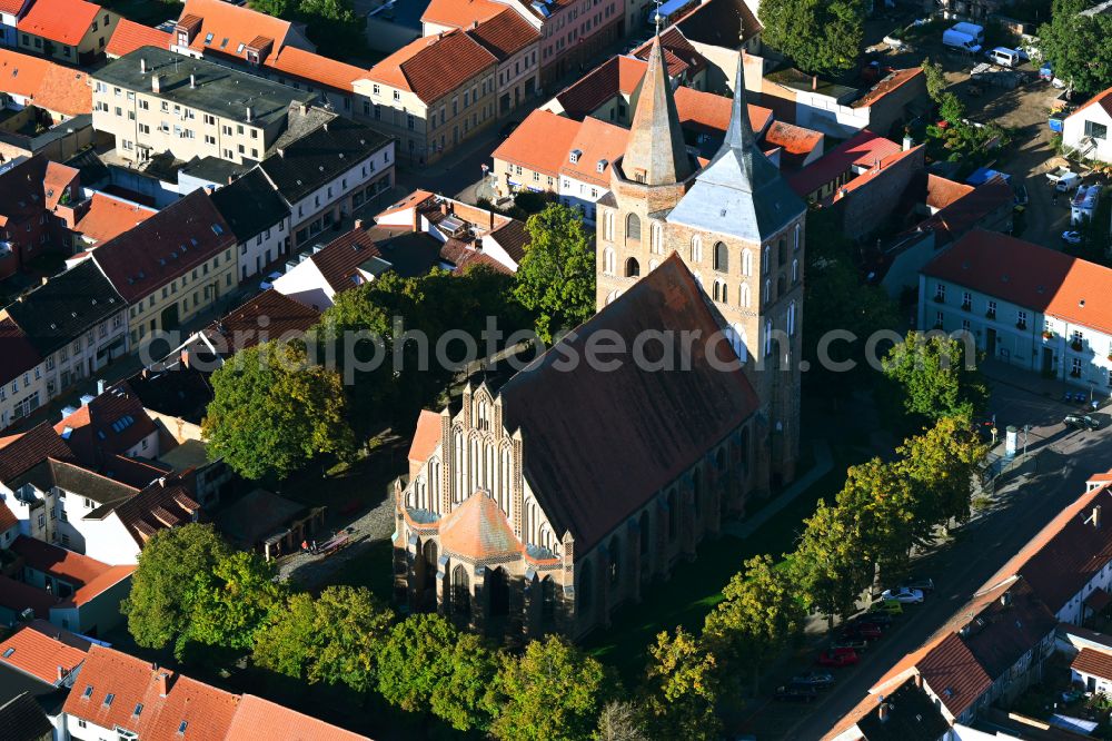
M665 582L653 582L642 591L639 604L619 609L610 628L593 633L584 648L603 663L614 668L627 682L635 682L645 668L646 650L664 630L684 626L698 632L703 620L722 601L722 590L742 569L746 559L763 553L780 560L791 551L820 498L833 498L845 482L845 470L866 457L862 451L835 447L834 465L807 491L747 539L722 535L704 542L694 562L683 562Z

